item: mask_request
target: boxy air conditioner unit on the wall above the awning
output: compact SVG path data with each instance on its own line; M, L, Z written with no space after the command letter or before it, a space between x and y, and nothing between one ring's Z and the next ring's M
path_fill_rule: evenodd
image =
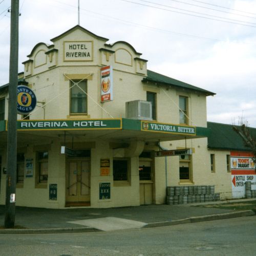
M129 119L151 121L152 103L145 100L133 100L125 102L125 116Z

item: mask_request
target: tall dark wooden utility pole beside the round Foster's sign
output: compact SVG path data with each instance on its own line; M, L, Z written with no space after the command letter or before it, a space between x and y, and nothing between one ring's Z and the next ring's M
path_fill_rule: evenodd
M17 80L18 80L18 17L19 0L11 1L11 41L9 69L9 104L7 138L7 175L5 200L5 228L15 222L15 194L17 168Z

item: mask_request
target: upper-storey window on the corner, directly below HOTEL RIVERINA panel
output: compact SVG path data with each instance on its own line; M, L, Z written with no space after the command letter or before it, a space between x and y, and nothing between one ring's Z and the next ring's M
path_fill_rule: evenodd
M70 114L87 114L87 81L70 81Z

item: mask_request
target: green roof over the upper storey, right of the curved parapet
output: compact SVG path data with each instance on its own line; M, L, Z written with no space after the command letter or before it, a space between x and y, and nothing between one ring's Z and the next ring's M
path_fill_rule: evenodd
M186 88L186 89L189 89L189 90L203 92L207 96L216 94L216 93L212 93L212 92L209 92L207 90L201 89L199 87L192 86L191 84L176 80L174 78L161 75L161 74L156 73L156 72L151 71L151 70L147 70L147 77L143 78L142 81L157 82L157 83L160 83L160 84L167 84L169 86L180 87L182 89Z

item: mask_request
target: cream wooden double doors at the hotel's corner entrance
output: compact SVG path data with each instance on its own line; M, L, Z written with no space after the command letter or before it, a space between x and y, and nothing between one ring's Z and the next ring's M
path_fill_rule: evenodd
M90 161L69 160L66 175L66 206L90 205Z

